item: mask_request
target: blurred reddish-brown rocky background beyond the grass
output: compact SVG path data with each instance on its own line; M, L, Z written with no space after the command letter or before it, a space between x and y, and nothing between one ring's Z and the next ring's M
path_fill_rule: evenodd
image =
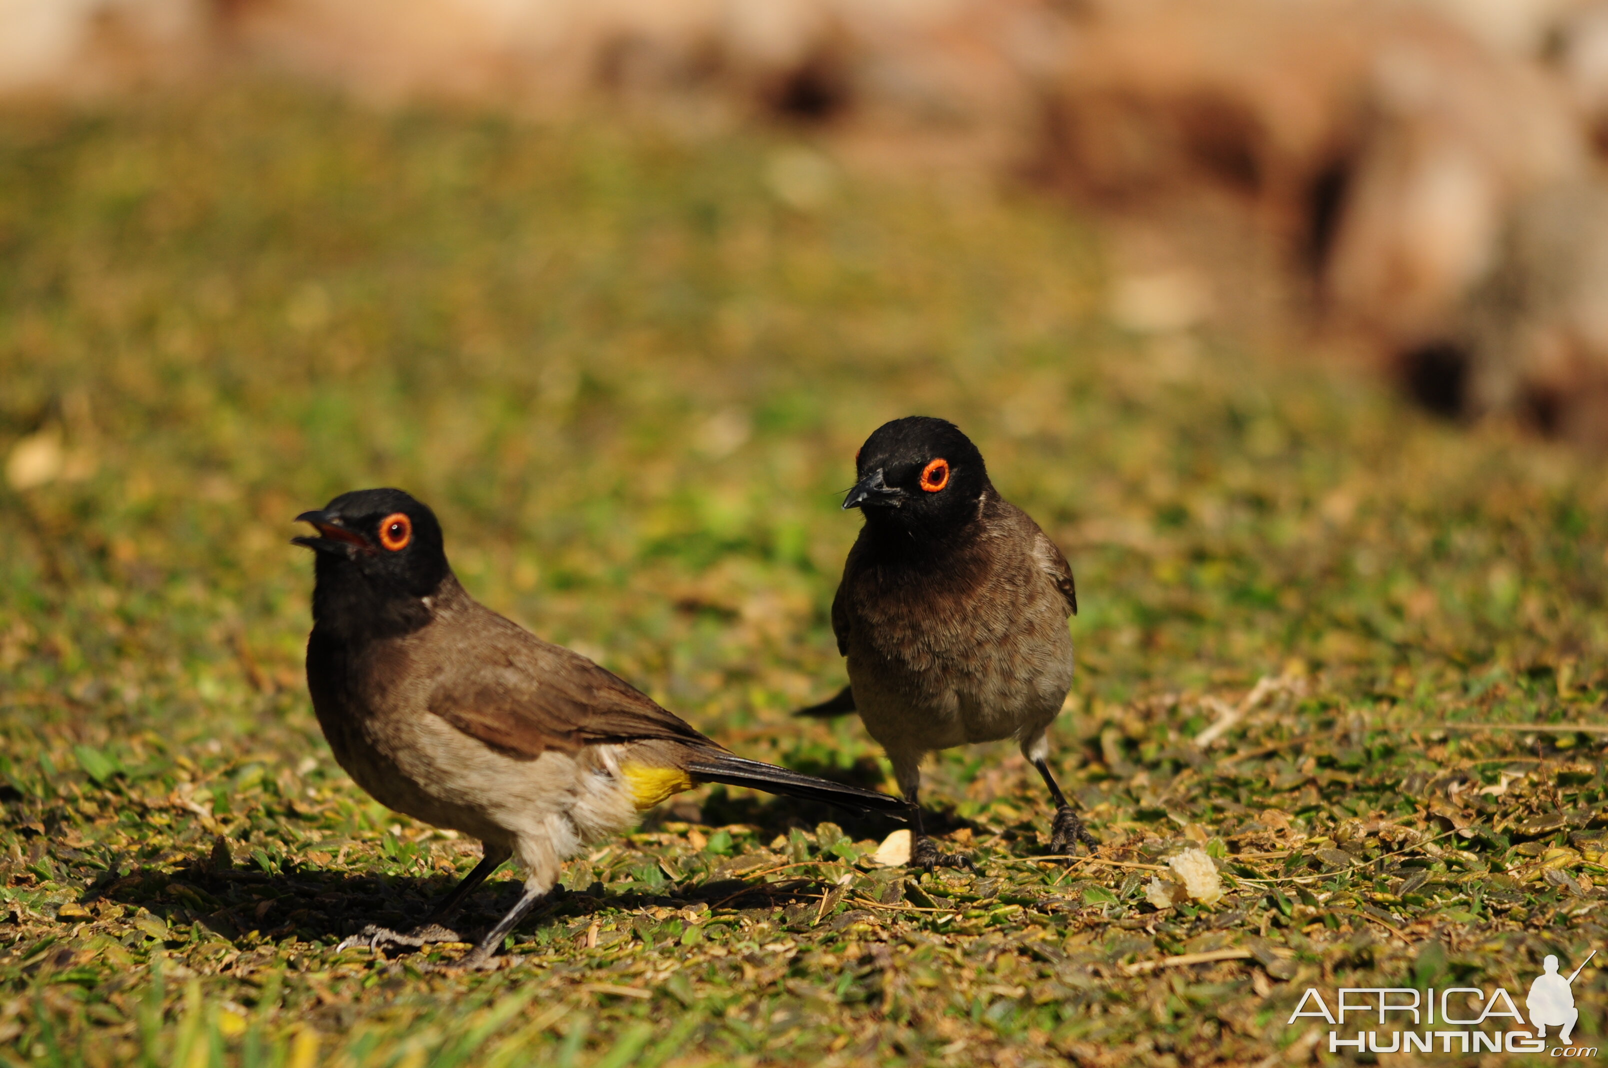
M0 3L0 93L273 71L378 106L746 122L855 170L1032 187L1114 227L1111 306L1296 330L1421 404L1608 441L1608 5L1594 0ZM818 156L778 158L818 206Z

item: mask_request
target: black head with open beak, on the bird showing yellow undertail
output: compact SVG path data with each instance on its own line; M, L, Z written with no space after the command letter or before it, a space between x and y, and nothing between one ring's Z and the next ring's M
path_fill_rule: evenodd
M391 629L391 616L405 624L452 574L436 513L400 489L341 494L296 521L318 531L317 537L291 539L317 553L317 621L334 613L381 629Z

